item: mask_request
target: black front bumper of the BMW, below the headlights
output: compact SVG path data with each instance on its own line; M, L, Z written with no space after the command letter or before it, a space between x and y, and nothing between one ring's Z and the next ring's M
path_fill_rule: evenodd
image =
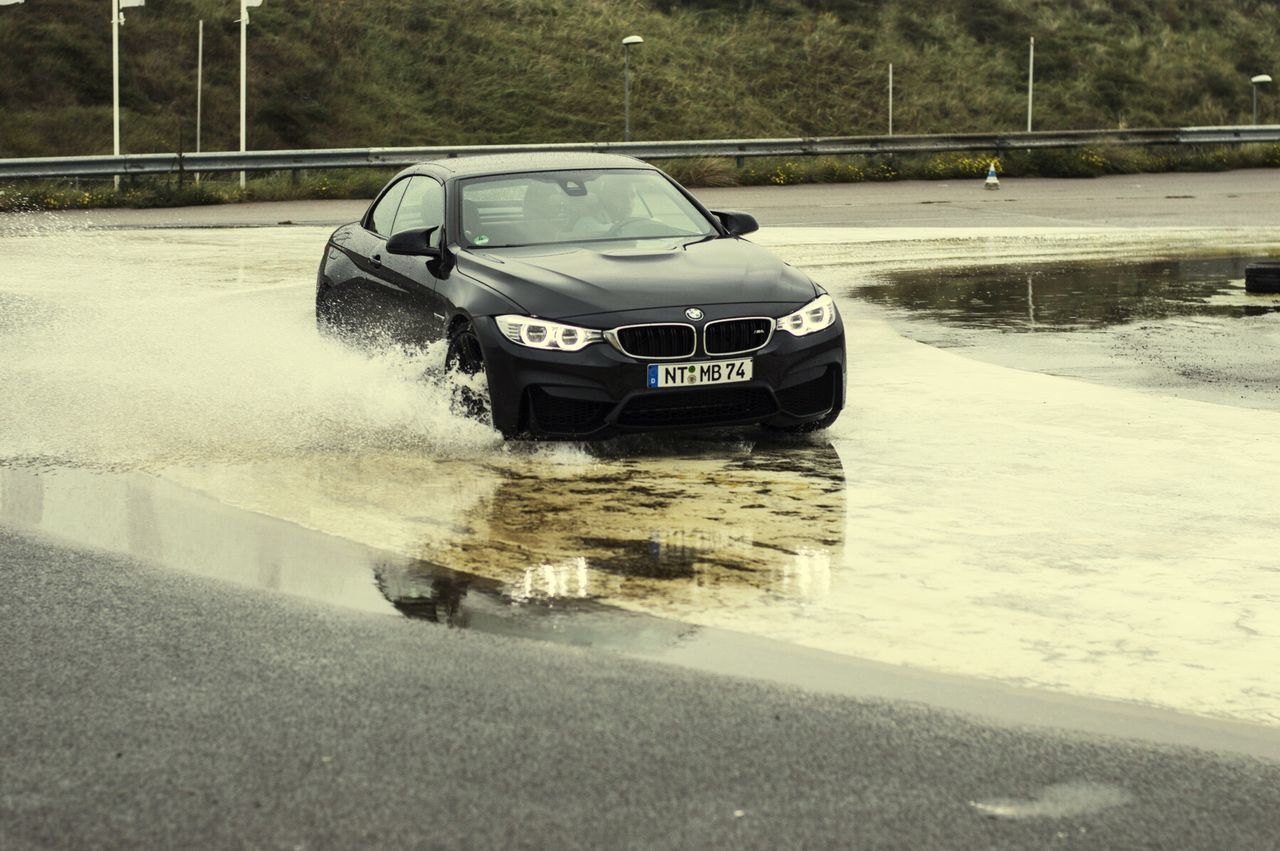
M780 331L751 357L750 381L646 386L650 361L608 343L544 352L508 340L492 317L474 328L484 349L494 426L503 434L596 439L620 433L764 424L801 426L845 404L845 330L837 317L808 337ZM719 361L698 354L681 362Z

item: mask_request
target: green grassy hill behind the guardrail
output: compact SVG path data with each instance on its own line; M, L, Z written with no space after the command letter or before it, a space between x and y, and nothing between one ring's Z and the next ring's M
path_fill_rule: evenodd
M148 0L122 29L125 152L236 150L236 0ZM1271 0L265 0L250 26L250 147L1248 123L1280 79ZM108 0L0 8L0 157L109 154ZM1280 120L1274 90L1262 120Z

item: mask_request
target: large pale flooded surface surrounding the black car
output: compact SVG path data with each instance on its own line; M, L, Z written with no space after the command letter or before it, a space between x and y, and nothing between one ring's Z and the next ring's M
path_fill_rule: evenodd
M837 293L874 293L896 280L868 280L884 269L1139 241L846 234L772 238ZM979 362L1234 388L1240 363L1267 375L1280 340L1274 314L1230 312L1262 303L1231 269L1212 292L1147 299L1176 310L1110 325L1039 312L1043 264L1004 284L1004 325L841 297L851 404L817 440L512 447L452 416L419 357L316 337L324 235L0 235L0 522L370 612L649 642L680 663L698 655L690 636L721 631L716 668L746 676L797 673L808 649L841 659L819 686L852 687L847 665L870 660L893 672L882 682L914 667L1280 726L1257 665L1280 641L1277 544L1270 502L1239 484L1276 479L1274 415ZM882 315L979 360L905 340ZM1024 315L1065 333L1010 333ZM765 664L756 641L788 653Z

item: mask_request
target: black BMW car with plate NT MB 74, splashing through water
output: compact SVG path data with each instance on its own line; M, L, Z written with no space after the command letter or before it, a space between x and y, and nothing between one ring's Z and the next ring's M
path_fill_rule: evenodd
M508 436L826 427L845 402L840 314L742 239L756 227L626 156L422 163L329 238L316 319L448 340L461 403Z

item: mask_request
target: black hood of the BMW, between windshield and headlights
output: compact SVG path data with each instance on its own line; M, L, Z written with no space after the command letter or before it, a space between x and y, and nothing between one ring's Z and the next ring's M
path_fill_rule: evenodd
M644 239L460 251L458 271L534 316L731 302L803 305L809 278L745 239Z

